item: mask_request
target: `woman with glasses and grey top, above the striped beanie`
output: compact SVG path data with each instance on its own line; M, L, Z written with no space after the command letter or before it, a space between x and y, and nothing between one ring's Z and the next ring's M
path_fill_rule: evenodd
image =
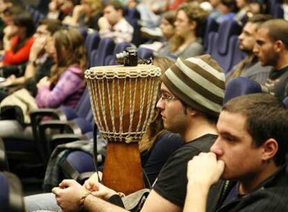
M186 59L204 54L202 36L205 31L208 13L198 3L183 3L177 10L175 33L182 39L171 45L175 56Z

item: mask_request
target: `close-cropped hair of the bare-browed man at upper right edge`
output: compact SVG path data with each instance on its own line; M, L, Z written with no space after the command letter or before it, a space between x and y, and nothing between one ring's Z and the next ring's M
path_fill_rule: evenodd
M259 28L267 28L271 40L281 40L288 50L288 22L284 19L273 19L262 23Z

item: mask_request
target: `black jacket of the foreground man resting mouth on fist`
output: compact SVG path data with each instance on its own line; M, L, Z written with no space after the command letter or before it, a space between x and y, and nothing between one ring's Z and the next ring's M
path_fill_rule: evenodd
M221 183L222 189L218 194L217 204L207 205L208 207L210 206L208 211L288 211L288 172L286 166L281 167L273 176L266 179L266 181L259 185L253 192L234 199L227 204L223 204L225 197L227 197L227 194L234 184L235 182L232 183L228 181ZM211 208L214 209L211 210Z

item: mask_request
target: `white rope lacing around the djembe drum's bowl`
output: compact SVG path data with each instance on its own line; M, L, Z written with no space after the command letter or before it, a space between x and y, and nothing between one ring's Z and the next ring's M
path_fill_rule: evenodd
M94 81L94 83L90 82L88 80L89 91L92 94L90 96L91 101L93 104L91 106L93 107L93 114L95 116L95 121L97 123L97 126L99 126L100 132L102 136L105 139L111 140L111 141L117 141L117 142L138 142L139 139L141 139L142 135L145 133L145 130L147 128L148 123L152 121L152 110L154 109L154 105L157 100L157 91L158 91L158 80L152 80L151 77L158 77L161 75L161 71L159 68L154 68L154 70L150 71L134 71L125 73L125 76L123 76L123 72L118 73L115 71L114 73L111 73L111 71L99 71L99 70L86 70L85 76L87 79L102 79L104 80L104 83L102 83L102 86L100 86L100 83L98 80ZM148 77L150 76L150 77ZM137 79L138 77L145 77L144 83L140 83ZM120 79L128 78L128 85L127 80L124 80L122 83L122 89L120 89ZM131 83L131 78L134 79L134 84ZM112 82L112 85L109 86L109 79L115 79ZM100 80L101 81L101 80ZM117 83L115 83L115 81ZM136 126L136 131L132 132L132 123L134 120L134 107L135 107L135 101L136 101L136 89L138 88L138 82L140 83L140 106L139 106L139 119ZM107 89L107 96L105 95L105 84ZM116 85L115 85L116 84ZM125 96L126 93L126 86L129 86L129 130L128 132L123 132L123 120L120 119L120 126L119 126L119 132L117 132L116 126L115 126L115 86L117 86L117 95L118 95L118 104L119 105L119 113L120 117L123 117L124 114L124 107L125 107ZM133 88L132 88L133 86ZM112 87L112 89L111 89ZM122 95L120 93L120 90L122 90ZM97 102L97 98L95 96L99 97L99 102ZM121 99L122 96L122 99ZM112 97L112 98L111 98ZM109 105L105 105L105 98L108 98ZM145 117L143 117L143 111L144 111L144 101L147 101L147 112L145 113ZM97 106L98 105L98 106ZM96 107L96 108L95 108ZM99 107L102 111L102 116L99 112ZM112 121L112 132L109 130L109 126L107 123L107 117L105 108L109 107L109 114L111 116ZM102 118L101 118L102 117ZM143 126L141 128L141 121L143 120ZM102 124L102 120L104 121L104 126Z

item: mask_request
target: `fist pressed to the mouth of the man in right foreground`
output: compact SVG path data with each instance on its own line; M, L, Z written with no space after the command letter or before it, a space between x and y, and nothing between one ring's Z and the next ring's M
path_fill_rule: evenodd
M200 153L188 162L187 179L189 183L204 185L210 188L224 171L225 163L217 160L214 153Z

